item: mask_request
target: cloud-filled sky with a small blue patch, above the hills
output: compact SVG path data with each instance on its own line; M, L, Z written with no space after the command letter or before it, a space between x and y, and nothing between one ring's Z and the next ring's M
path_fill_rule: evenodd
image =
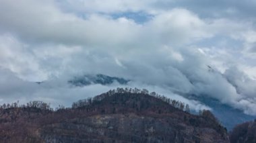
M195 110L210 107L180 95L256 115L255 7L254 0L0 0L0 103L70 106L123 87L67 83L104 74Z

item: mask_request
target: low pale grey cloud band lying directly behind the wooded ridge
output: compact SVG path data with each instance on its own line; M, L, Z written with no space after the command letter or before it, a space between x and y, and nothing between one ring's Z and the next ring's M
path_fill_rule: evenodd
M28 101L40 100L46 103L50 103L52 107L58 107L58 105L65 105L70 107L71 103L79 99L86 99L87 97L93 97L100 93L106 92L110 89L117 87L141 87L149 89L150 91L156 91L164 94L171 99L177 99L191 105L191 109L199 111L199 109L210 109L206 105L203 105L199 101L189 100L180 95L176 95L169 90L155 85L148 85L145 83L131 82L128 85L119 85L119 83L113 83L111 85L88 85L85 87L72 87L67 83L67 79L51 79L37 84L30 81L24 81L15 77L15 74L8 70L0 70L0 103L12 103L20 101L24 104ZM66 77L67 78L67 77Z

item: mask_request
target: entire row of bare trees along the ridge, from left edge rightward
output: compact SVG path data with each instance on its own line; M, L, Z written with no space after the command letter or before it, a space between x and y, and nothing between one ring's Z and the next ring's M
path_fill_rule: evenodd
M139 95L149 95L152 97L156 97L157 99L160 99L169 105L172 105L172 107L175 107L177 109L181 109L183 111L186 111L187 113L190 112L190 108L188 104L185 104L181 101L177 101L174 99L170 99L168 97L165 97L164 95L160 95L156 92L149 92L147 89L131 89L131 88L117 88L117 89L112 89L110 91L107 91L106 93L102 93L101 95L95 96L95 97L89 97L88 99L82 99L77 102L74 102L71 106L71 109L79 108L79 107L85 107L87 105L91 105L94 102L101 101L102 99L106 97L110 97L113 95L118 95L118 94L137 94ZM36 109L42 109L42 110L51 110L51 111L60 111L63 109L70 109L66 108L63 105L59 105L59 107L56 107L53 109L50 105L50 103L45 103L43 101L30 101L26 104L19 104L19 101L14 102L14 103L3 103L3 105L0 105L0 109L9 109L9 108L36 108Z

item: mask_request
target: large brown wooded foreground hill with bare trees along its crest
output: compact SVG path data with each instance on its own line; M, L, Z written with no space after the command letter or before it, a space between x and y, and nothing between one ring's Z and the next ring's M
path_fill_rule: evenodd
M0 109L0 142L229 142L210 111L146 89L110 90L53 111L46 103Z

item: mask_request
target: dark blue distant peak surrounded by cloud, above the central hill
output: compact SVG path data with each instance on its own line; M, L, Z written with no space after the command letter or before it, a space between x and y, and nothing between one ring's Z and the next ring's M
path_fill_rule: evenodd
M110 77L108 75L84 75L80 77L74 77L73 79L69 80L68 83L71 85L75 85L78 87L83 87L86 85L92 84L100 84L100 85L110 85L114 82L117 82L121 85L126 85L129 80L119 78L119 77Z

